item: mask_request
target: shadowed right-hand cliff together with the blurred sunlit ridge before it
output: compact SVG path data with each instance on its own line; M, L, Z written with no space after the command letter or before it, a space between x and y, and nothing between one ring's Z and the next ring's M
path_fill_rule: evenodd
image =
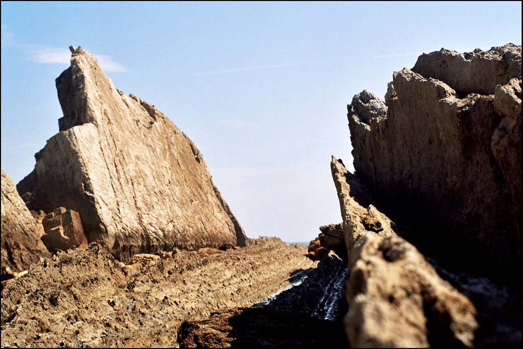
M521 46L424 54L348 120L350 344L519 347Z

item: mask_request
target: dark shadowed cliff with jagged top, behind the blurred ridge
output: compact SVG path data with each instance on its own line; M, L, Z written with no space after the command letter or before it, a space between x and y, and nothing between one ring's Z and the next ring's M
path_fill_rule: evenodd
M419 248L520 283L521 46L424 54L386 98L348 106L358 178Z

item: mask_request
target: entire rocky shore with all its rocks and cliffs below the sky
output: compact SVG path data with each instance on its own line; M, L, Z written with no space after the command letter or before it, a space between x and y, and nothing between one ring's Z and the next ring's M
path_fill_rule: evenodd
M60 132L2 170L2 347L521 346L520 45L354 96L309 247L247 238L196 145L71 52Z

